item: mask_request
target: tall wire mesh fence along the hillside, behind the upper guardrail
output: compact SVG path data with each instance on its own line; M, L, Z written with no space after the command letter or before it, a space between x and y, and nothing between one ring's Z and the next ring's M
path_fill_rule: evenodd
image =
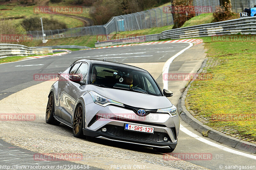
M242 12L244 8L251 8L256 4L256 0L231 0L232 10ZM211 7L212 11L220 5L219 0L194 0L196 7ZM173 24L172 12L168 11L170 5L162 8L154 8L132 14L112 17L107 24L100 26L87 26L68 29L44 30L45 39L69 38L82 35L108 35L122 31L141 30L153 27L162 27ZM197 13L199 15L199 13ZM33 40L42 40L42 31L28 31L27 34L33 36Z

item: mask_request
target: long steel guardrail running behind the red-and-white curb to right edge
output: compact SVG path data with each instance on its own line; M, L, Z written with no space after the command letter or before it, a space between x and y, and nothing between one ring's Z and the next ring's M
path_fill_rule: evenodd
M177 28L166 30L159 34L96 42L95 47L113 46L131 42L147 42L164 39L182 39L237 33L256 34L256 17L239 18L210 24L202 24L198 26Z

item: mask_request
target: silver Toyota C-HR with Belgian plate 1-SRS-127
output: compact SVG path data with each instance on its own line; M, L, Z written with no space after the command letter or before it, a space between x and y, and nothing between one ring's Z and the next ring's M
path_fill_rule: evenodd
M82 59L58 73L46 122L73 128L75 137L97 137L172 152L180 119L176 107L148 71L131 65Z

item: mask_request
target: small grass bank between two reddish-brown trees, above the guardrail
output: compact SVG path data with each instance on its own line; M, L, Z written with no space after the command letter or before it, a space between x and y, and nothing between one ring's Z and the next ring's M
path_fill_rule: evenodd
M183 24L183 26L181 26L181 28L187 27L187 26L196 26L200 24L208 24L208 23L211 23L212 21L213 21L212 13L205 13L189 19Z

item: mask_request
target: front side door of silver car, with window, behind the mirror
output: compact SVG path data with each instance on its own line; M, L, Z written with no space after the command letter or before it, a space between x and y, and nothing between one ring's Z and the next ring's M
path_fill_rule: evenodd
M74 72L74 70L70 71L69 76L70 75L81 75L82 76L81 81L84 82L84 84L85 84L85 81L86 81L85 77L86 77L87 71L88 71L88 64L81 63L75 72ZM61 111L61 117L62 117L62 119L64 119L65 121L67 121L69 123L72 123L73 109L75 107L76 100L84 92L84 88L80 88L80 87L81 87L81 84L79 84L77 82L72 82L70 80L67 81L66 86L64 87L64 91L66 94L66 99L65 99L66 105L64 105L65 110ZM68 113L66 113L65 111L67 111Z

